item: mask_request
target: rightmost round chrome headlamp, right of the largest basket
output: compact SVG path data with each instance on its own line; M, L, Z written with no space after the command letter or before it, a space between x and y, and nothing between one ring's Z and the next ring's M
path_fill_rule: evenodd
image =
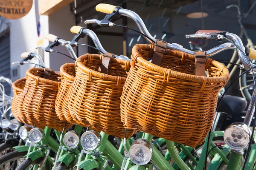
M241 122L232 123L224 132L225 143L233 150L244 149L250 142L250 128Z

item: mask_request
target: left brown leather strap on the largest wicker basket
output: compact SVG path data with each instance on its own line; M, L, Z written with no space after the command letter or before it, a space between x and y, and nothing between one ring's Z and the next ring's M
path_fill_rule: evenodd
M151 63L160 65L162 62L163 54L166 51L168 43L163 40L156 40L154 47L154 54Z

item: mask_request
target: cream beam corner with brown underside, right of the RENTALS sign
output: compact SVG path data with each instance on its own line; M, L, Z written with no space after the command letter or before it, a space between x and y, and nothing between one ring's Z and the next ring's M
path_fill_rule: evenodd
M39 15L50 15L74 0L38 0Z

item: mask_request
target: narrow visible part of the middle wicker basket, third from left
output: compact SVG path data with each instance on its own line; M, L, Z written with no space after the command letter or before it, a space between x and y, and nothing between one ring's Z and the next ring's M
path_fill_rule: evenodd
M73 121L73 117L70 115L70 111L68 109L68 96L72 84L75 80L75 63L66 63L62 65L60 68L60 72L61 86L58 89L58 94L55 100L55 111L60 120L64 120L73 124L76 122Z

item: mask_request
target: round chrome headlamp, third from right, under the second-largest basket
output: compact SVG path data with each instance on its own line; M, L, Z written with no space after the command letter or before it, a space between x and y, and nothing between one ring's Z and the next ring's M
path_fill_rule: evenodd
M81 145L84 150L95 150L102 142L102 137L100 133L95 130L88 130L84 132L81 136Z

